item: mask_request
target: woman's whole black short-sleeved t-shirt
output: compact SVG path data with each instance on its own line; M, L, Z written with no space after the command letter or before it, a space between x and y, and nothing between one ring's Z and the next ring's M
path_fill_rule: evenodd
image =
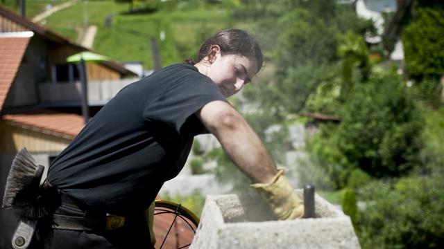
M195 135L194 115L226 99L189 64L167 66L122 89L49 167L48 180L87 205L116 214L147 208L177 176Z

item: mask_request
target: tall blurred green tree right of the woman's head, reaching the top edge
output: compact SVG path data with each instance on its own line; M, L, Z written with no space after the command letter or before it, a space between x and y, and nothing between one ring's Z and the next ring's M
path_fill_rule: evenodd
M300 112L318 86L335 81L341 34L364 34L370 28L349 6L335 1L247 2L253 10L246 10L246 16L260 17L257 30L275 68L273 79L255 100L287 113Z

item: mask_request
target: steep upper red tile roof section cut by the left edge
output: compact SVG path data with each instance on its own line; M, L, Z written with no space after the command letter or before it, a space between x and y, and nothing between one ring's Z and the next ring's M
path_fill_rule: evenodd
M0 37L0 110L14 82L28 42L29 37Z

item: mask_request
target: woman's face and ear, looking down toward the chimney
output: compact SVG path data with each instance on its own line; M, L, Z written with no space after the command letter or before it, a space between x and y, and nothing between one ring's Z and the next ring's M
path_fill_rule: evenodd
M218 51L209 66L207 76L210 77L225 97L241 91L245 84L257 73L255 62L241 55L221 55Z

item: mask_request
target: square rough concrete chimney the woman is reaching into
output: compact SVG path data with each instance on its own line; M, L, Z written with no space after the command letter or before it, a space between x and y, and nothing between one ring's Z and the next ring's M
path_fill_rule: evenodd
M296 190L302 196L302 190ZM357 248L349 216L315 194L315 218L276 221L257 195L207 196L191 249Z

